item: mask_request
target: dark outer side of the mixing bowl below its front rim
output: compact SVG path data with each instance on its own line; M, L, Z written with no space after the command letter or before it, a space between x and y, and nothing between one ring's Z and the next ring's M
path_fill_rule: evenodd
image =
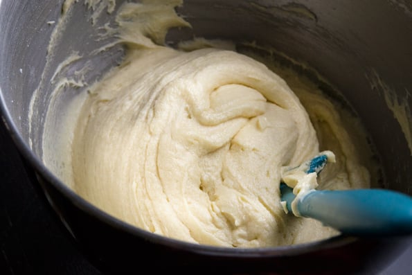
M402 236L337 236L294 247L261 249L193 245L153 236L99 213L87 202L73 202L50 181L35 175L78 247L103 272L134 272L150 265L152 272L200 274L377 274L408 246Z

